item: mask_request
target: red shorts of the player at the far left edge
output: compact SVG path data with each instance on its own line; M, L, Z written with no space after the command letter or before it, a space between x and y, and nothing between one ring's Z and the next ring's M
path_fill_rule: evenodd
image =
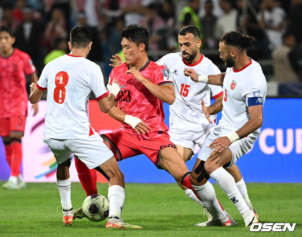
M14 115L9 118L0 118L0 135L2 137L9 136L11 132L24 133L25 128L24 115Z

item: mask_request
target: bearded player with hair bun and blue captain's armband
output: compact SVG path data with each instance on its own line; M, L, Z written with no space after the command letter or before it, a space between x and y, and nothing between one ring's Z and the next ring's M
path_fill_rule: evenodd
M230 31L220 38L219 44L226 73L207 76L198 75L192 69L184 71L195 82L223 85L222 119L204 141L193 171L202 168L217 182L243 216L246 227L259 222L258 216L249 209L234 178L223 167L231 167L251 149L262 126L266 80L260 65L246 54L246 49L254 42L253 37ZM218 225L226 219L207 180L201 180L196 172L191 172L192 186L213 216L213 220L200 223L200 226Z

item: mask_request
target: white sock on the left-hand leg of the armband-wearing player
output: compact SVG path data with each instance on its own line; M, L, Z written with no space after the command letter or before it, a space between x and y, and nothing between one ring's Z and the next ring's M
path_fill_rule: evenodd
M228 221L228 217L226 214L223 213L215 194L215 190L213 185L207 181L204 185L201 186L194 186L192 187L195 189L198 196L202 199L204 206L209 210L211 215L213 216L214 221L218 221L219 223L223 224Z

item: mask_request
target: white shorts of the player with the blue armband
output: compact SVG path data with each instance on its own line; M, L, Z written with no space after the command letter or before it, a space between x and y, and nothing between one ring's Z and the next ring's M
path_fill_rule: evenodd
M221 136L226 136L227 134L231 133L233 131L222 128L222 127L215 127L212 132L207 136L207 138L204 141L204 145L201 147L197 158L201 159L203 161L206 161L209 156L214 151L213 149L210 149L209 145L217 138ZM242 139L239 139L235 142L233 142L229 146L229 150L232 152L232 161L231 164L227 167L230 168L232 165L236 163L236 161L244 155L246 152L249 151L249 149L252 148L252 145L256 141L258 135L255 135L254 133L249 134L247 137L244 137Z

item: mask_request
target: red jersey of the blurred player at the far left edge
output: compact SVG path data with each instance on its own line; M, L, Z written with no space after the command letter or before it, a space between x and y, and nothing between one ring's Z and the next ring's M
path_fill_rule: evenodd
M0 55L0 117L13 115L26 116L28 95L25 75L31 75L36 69L30 56L18 49L4 58Z

